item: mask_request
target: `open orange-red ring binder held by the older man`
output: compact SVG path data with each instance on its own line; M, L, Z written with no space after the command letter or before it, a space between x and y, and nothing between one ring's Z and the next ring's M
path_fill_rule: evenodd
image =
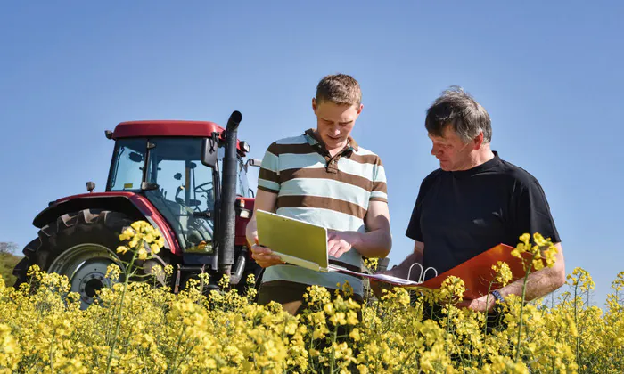
M496 247L489 248L487 251L481 253L480 255L474 256L468 261L462 264L458 264L456 267L448 270L447 272L442 272L441 274L438 274L438 272L432 267L423 269L423 266L421 266L421 264L413 264L412 266L410 266L410 271L407 276L407 278L409 279L407 280L384 274L366 274L360 272L351 272L345 269L340 269L337 271L347 272L351 275L365 277L372 281L381 281L384 283L389 283L393 286L416 290L439 289L439 287L442 285L442 282L446 280L447 277L454 275L457 278L461 278L462 280L464 280L464 299L475 299L488 294L488 289L490 289L490 283L492 283L491 290L501 288L502 285L497 284L494 281L496 278L496 272L492 270L492 265L497 265L498 261L504 262L509 265L509 269L512 271L512 280L510 281L510 283L515 280L524 278L526 274L526 268L532 266L530 262L532 254L528 252L523 252L521 254L522 258L518 258L512 256L513 249L514 248L511 246L498 244ZM417 270L420 270L420 273L418 273ZM533 270L534 268L531 267L531 271ZM429 280L426 280L427 274L430 272L433 272L435 276ZM417 276L415 277L416 280L411 280L412 275L414 274L417 274Z

